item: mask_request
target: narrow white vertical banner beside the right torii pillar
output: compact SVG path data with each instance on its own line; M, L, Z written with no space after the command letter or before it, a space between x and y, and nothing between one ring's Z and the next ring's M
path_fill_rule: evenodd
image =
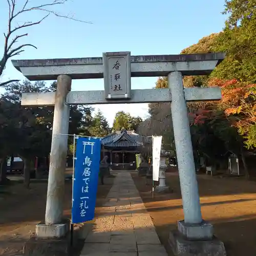
M153 136L152 139L153 139L153 143L152 143L153 180L158 181L162 136Z

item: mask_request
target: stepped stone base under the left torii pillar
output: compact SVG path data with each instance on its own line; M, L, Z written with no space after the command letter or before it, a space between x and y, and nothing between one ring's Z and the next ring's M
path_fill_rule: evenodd
M36 225L36 234L23 247L23 254L31 256L70 255L70 221L62 224Z

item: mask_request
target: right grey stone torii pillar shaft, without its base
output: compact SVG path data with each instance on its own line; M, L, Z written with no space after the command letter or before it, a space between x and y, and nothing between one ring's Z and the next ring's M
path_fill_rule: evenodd
M202 222L202 214L181 72L169 73L168 86L172 92L171 110L184 222L200 224Z

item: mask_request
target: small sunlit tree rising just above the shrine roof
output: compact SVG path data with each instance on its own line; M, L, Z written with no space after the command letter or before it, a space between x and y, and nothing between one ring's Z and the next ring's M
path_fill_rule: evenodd
M142 122L141 117L132 117L130 113L124 113L123 111L118 111L115 115L113 122L113 130L120 131L125 130L136 130L139 124Z

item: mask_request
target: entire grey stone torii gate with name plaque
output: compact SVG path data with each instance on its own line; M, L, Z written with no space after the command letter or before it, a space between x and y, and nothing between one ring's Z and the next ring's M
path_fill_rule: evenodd
M225 255L212 225L202 219L186 106L186 101L219 100L221 90L184 88L182 81L185 75L209 74L224 57L224 53L131 56L114 52L93 58L12 60L30 80L57 79L56 92L22 95L24 106L55 106L45 223L36 226L36 236L60 238L69 231L62 223L68 143L67 136L59 134L68 134L70 104L172 102L184 220L178 222L177 232L170 233L170 244L177 255L191 250L193 255ZM152 76L168 76L168 89L131 90L131 77ZM104 91L71 91L72 79L86 78L104 78Z

